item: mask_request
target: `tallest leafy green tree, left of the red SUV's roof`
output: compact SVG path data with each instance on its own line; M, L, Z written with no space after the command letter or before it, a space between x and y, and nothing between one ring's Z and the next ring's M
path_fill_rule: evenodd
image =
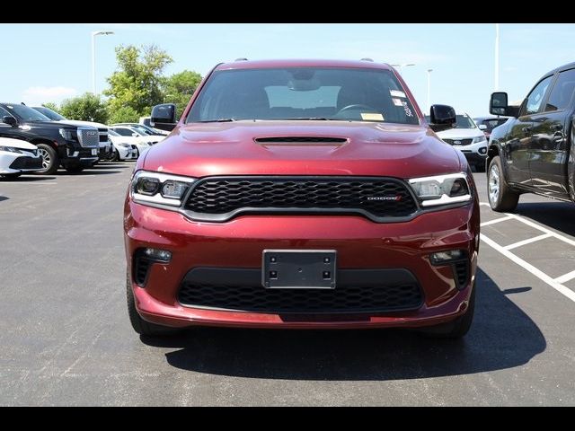
M139 115L149 115L152 106L164 101L162 84L164 67L173 62L167 52L154 45L137 48L134 45L116 48L118 69L109 78L110 112L131 108ZM124 112L127 112L124 110Z

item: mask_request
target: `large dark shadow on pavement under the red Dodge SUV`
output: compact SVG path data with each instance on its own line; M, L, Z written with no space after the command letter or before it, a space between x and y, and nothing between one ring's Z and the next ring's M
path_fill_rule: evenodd
M175 347L170 365L198 373L286 380L400 380L524 365L543 352L542 332L480 269L473 327L462 340L408 330L197 328L147 345ZM516 293L521 289L514 289ZM510 293L510 292L509 292Z

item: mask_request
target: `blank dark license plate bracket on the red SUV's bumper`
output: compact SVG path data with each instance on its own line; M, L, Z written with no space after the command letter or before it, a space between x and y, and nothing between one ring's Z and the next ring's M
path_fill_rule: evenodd
M264 250L261 284L268 289L333 289L335 250Z

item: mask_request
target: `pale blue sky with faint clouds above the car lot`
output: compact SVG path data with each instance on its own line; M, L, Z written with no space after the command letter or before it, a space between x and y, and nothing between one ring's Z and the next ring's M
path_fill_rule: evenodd
M430 101L472 117L488 114L495 91L495 24L0 24L0 101L60 102L92 91L92 31L96 92L116 70L118 45L150 45L173 57L168 75L189 69L206 75L237 57L373 58L404 66L402 75L420 108ZM523 99L549 70L575 61L575 24L500 24L500 91Z

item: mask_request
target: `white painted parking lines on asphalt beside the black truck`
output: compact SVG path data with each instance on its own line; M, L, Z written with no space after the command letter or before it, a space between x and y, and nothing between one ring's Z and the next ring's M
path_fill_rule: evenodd
M490 206L489 204L487 204L485 202L480 202L479 205L487 206L487 207ZM491 220L491 222L503 222L505 220L517 220L523 224L527 224L528 226L534 227L535 229L543 232L544 234L535 236L535 237L530 238L528 240L515 242L513 244L509 244L507 247L504 247L504 246L498 244L497 242L494 242L493 240L491 240L491 238L486 236L484 233L481 233L480 238L481 238L482 242L485 242L487 245L489 245L495 251L499 251L503 256L505 256L506 258L517 263L517 265L519 265L521 268L526 269L526 271L530 272L535 277L539 278L545 284L552 286L553 289L555 289L557 292L559 292L562 295L567 296L569 299L571 299L571 301L573 301L575 303L575 292L573 292L569 287L562 285L562 283L565 283L566 281L571 280L571 278L575 278L575 270L571 271L567 274L564 274L561 277L553 278L553 277L550 277L547 274L545 274L541 269L535 268L533 265L531 265L526 260L519 258L516 254L513 254L511 251L509 251L510 249L515 249L515 248L520 247L522 245L526 245L528 243L540 241L540 240L543 240L544 238L550 238L550 237L557 238L558 240L561 240L562 242L567 242L568 244L571 244L573 246L575 246L575 241L571 240L570 238L563 236L560 233L555 233L555 232L553 232L553 231L551 231L551 230L549 230L549 229L547 229L547 228L545 228L539 224L536 224L530 220L526 220L525 218L523 218L521 216L517 216L515 214L509 214L509 213L504 213L504 214L506 214L507 217L497 218L495 220ZM482 223L481 225L484 226L484 225L488 225L488 224L492 224L492 223L485 222L485 223Z

